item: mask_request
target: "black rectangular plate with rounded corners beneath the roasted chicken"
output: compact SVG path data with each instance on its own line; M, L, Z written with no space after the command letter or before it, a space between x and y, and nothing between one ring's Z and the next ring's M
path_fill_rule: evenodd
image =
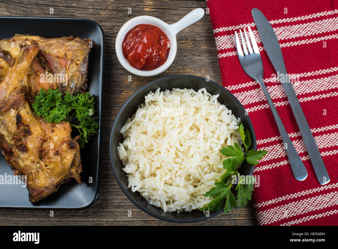
M88 62L88 88L95 97L94 118L101 125L102 82L104 33L100 25L88 19L69 18L25 18L0 17L0 39L13 37L15 34L35 35L44 38L63 36L90 38L93 47ZM81 149L82 170L79 185L74 179L60 186L58 191L46 199L35 203L28 200L28 190L21 184L0 184L0 208L6 209L84 209L91 206L99 190L101 127L86 148ZM0 177L13 176L13 171L0 155ZM92 179L92 181L91 181Z

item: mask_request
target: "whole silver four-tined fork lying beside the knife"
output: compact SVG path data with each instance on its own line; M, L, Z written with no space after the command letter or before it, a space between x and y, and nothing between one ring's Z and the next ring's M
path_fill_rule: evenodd
M252 47L250 45L248 36L244 28L244 36L245 36L245 40L246 40L246 44L248 48L247 49L244 39L243 39L242 31L239 30L240 35L241 35L243 50L242 50L237 32L235 31L236 47L237 47L239 62L241 63L242 68L244 69L246 74L249 75L253 80L257 81L259 85L261 86L264 92L264 95L266 97L266 100L268 101L269 107L272 111L273 117L277 123L279 133L281 134L281 137L284 143L284 148L286 150L286 154L288 155L289 162L291 165L292 173L298 181L304 181L306 177L308 176L308 172L303 162L301 161L296 149L294 148L291 142L291 139L283 125L283 122L275 106L273 105L273 101L269 95L268 89L266 88L263 82L263 63L262 63L261 54L259 52L254 34L252 33L250 27L248 27L248 31L249 31ZM243 51L244 51L244 54L243 54Z

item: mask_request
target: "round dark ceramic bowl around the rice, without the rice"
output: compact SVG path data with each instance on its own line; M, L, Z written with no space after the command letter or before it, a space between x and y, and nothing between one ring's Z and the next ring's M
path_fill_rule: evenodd
M127 118L131 117L136 112L138 105L144 103L145 95L147 95L150 91L155 92L158 88L160 88L161 91L165 89L171 90L172 88L192 88L197 91L201 88L206 88L207 91L212 95L219 94L219 97L217 98L218 101L221 104L224 104L228 109L232 110L232 113L237 118L241 118L241 123L243 124L244 128L249 131L251 137L250 150L257 149L254 128L252 127L249 116L245 115L244 107L232 93L215 82L207 82L205 78L192 75L172 75L150 82L132 94L117 114L110 137L110 160L116 181L120 185L124 194L141 210L161 220L177 223L189 223L206 220L223 212L225 201L222 208L217 212L211 212L209 217L207 217L203 211L199 210L180 213L164 212L163 209L149 204L138 191L132 192L131 189L128 188L128 179L126 173L122 170L124 166L117 153L117 146L119 143L123 142L123 136L120 133L120 130L125 124ZM248 163L244 163L239 168L239 173L241 175L252 175L253 172L254 166ZM232 190L235 198L237 198L237 191L235 191L235 188L232 188Z

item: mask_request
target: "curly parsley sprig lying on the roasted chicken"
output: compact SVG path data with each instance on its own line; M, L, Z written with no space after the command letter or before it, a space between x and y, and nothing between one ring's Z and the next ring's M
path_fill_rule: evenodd
M49 123L68 121L73 116L77 118L77 125L71 123L71 126L79 131L79 144L82 148L97 133L98 123L91 118L95 112L95 99L89 92L78 93L76 96L66 92L62 97L62 93L57 89L41 89L34 98L34 112ZM72 110L74 112L69 115Z

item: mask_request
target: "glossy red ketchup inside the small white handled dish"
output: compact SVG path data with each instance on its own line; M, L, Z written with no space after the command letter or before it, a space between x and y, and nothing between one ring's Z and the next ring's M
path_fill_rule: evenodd
M139 24L130 29L122 43L124 58L140 70L152 70L163 65L168 58L170 41L159 28Z

